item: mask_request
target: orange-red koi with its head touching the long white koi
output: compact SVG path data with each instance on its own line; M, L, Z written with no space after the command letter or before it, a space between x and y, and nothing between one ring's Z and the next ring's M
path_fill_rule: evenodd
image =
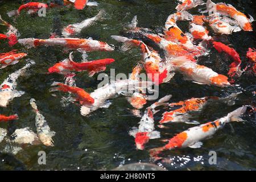
M81 105L94 103L94 98L91 97L89 93L85 92L84 89L81 89L77 86L68 86L60 82L53 82L52 86L57 86L57 87L52 88L50 90L51 92L59 90L61 92L70 92L75 94L77 101L79 101Z

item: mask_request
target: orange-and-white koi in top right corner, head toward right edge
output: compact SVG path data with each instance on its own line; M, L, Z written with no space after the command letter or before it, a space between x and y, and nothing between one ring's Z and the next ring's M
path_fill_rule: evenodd
M216 4L208 0L207 10L208 11L213 10L213 11L216 11L217 13L220 13L221 15L229 16L230 18L235 19L236 22L244 31L253 31L253 28L251 27L251 23L250 23L253 21L252 16L250 16L250 19L248 19L245 14L238 11L232 5L226 5L225 3Z

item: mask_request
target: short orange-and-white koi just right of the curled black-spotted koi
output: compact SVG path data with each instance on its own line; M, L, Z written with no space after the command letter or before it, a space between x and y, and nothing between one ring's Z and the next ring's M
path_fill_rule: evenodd
M189 32L194 39L210 40L209 31L203 26L204 15L194 15L193 20L189 23Z

